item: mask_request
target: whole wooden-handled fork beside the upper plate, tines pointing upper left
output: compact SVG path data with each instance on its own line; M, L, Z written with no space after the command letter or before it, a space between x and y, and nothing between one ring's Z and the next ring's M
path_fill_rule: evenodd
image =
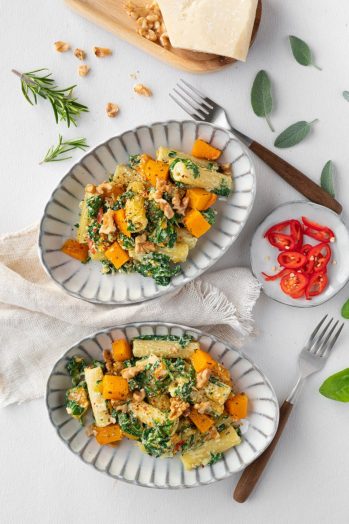
M194 120L209 122L225 129L228 129L237 136L251 151L268 164L281 178L288 184L302 193L312 202L322 204L332 209L336 213L342 212L341 204L327 193L322 187L313 182L304 173L294 166L277 156L266 147L258 144L248 136L235 129L229 122L226 111L201 93L196 87L180 79L172 93L169 93L172 100L176 102Z

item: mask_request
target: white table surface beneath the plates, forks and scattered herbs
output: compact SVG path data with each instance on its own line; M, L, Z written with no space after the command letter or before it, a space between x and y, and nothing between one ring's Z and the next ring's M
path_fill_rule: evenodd
M86 136L93 146L138 124L182 119L185 115L167 94L180 76L221 102L238 128L272 147L274 136L249 104L251 83L260 69L266 69L273 82L272 121L278 132L297 120L320 120L309 139L283 151L283 156L314 180L319 179L325 162L333 159L338 168L337 195L348 210L349 104L341 92L349 89L349 5L347 0L335 4L265 0L260 32L247 64L199 77L148 57L81 19L62 0L0 0L0 231L15 231L37 221L51 191L73 163L38 165L58 132L67 137ZM322 72L293 60L288 34L299 35L312 45ZM53 50L56 40L88 50L92 68L88 77L77 76L78 61L72 54ZM94 45L111 47L113 56L94 58ZM12 67L22 71L49 67L60 85L77 82L77 93L91 110L81 118L78 130L56 126L45 103L31 107L21 95L18 78L10 73ZM133 93L135 81L130 75L137 71L139 81L153 89L153 98ZM120 105L116 119L105 115L109 101ZM258 193L253 213L239 241L219 263L221 267L247 265L256 224L280 202L298 198L257 159L256 167ZM296 378L296 356L310 329L325 312L338 317L348 296L347 286L330 303L306 311L263 296L259 300L255 309L259 333L246 352L268 375L280 401ZM348 345L346 326L326 369L306 384L263 481L244 505L232 500L238 476L200 489L172 492L115 482L67 451L50 427L43 400L2 410L0 521L347 523L348 405L325 399L318 388L328 375L348 366Z

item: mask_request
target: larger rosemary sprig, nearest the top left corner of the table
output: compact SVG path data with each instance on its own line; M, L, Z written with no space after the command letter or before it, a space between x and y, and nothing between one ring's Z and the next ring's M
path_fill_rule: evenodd
M88 111L88 107L77 102L77 98L73 98L73 89L76 85L59 89L55 80L51 78L51 73L41 73L47 69L36 69L28 73L19 73L12 69L15 75L19 76L22 84L22 93L28 100L29 104L36 105L38 103L38 96L49 100L51 103L53 113L55 115L56 123L59 120L64 120L67 126L70 124L76 126L75 118L80 116L80 113Z

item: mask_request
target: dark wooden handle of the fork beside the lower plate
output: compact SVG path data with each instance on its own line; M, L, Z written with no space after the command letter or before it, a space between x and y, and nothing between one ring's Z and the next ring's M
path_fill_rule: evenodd
M251 495L255 485L257 484L259 477L262 475L265 466L268 464L270 457L273 454L276 444L281 437L281 434L286 426L288 417L292 411L293 404L285 402L280 408L280 421L278 429L275 433L275 437L267 449L254 461L252 464L247 466L241 475L239 482L234 490L234 499L237 502L245 502L245 500Z

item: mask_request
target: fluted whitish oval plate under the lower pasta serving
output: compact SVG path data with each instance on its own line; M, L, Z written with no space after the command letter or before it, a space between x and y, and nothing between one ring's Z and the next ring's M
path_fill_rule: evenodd
M248 419L243 426L243 440L224 454L213 466L192 471L184 470L178 457L154 458L142 453L129 440L117 447L99 446L85 428L72 419L64 406L65 391L71 378L65 365L73 355L87 360L102 359L103 349L111 349L112 341L139 335L192 335L203 349L221 361L231 373L238 391L249 397ZM211 484L229 477L253 462L273 439L279 421L279 406L275 392L263 373L245 355L197 329L176 324L148 322L126 324L91 335L70 348L55 364L47 383L46 405L50 420L66 446L81 460L110 477L149 488L192 488Z

